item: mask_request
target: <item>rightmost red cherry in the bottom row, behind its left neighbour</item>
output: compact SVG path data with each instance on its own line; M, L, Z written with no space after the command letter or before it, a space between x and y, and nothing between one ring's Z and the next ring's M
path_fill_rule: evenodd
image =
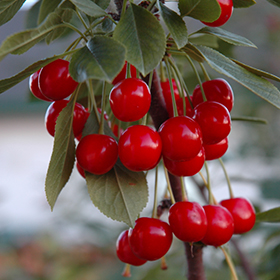
M235 234L242 234L253 228L256 221L256 213L249 200L235 197L222 200L220 204L231 213L234 220Z

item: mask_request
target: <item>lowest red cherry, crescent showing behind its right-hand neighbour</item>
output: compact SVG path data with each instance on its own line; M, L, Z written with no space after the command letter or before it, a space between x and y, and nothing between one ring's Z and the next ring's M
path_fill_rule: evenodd
M120 261L130 265L140 266L147 262L146 260L139 259L132 252L128 242L128 230L124 230L119 235L116 242L116 253Z

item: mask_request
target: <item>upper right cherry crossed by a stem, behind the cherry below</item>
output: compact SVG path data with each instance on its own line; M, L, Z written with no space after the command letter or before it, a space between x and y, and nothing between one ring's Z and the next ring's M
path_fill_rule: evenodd
M230 84L224 79L214 79L202 83L207 101L216 101L227 107L231 112L234 104L234 95ZM203 102L200 86L197 85L192 95L193 106Z

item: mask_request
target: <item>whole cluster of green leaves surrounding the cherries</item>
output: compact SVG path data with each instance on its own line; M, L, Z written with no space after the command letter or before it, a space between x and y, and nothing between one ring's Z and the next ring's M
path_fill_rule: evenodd
M2 1L0 24L12 19L24 2ZM147 76L159 66L164 55L188 57L198 64L208 64L219 74L237 81L280 108L280 92L268 81L270 79L279 82L279 77L226 57L209 46L208 38L210 36L235 46L255 48L252 42L221 28L204 27L189 34L184 18L192 17L204 22L216 20L221 13L216 0L179 0L179 13L168 8L164 1L148 2L148 7L144 8L130 1L127 9L119 11L120 19L116 21L114 14L107 11L109 0L38 1L35 4L36 9L34 8L38 11L37 26L11 35L0 46L2 60L9 54L23 54L42 40L50 44L68 30L77 33L77 39L61 54L37 61L15 76L0 81L2 93L48 63L66 57L70 60L69 70L72 77L81 83L57 121L54 148L46 178L46 194L52 208L69 180L75 161L72 117L69 117L72 116L74 103L85 96L85 91L89 99L94 99L92 82L111 83L125 61L134 65L142 76ZM234 0L233 3L235 8L246 8L255 4L253 0ZM274 4L277 4L277 1L274 1ZM168 29L168 36L163 25ZM97 131L97 116L92 113L83 134ZM109 128L106 133L112 135ZM147 203L145 174L131 172L118 162L114 169L105 175L87 174L86 177L90 197L100 211L112 219L132 226ZM260 216L259 219L262 220L263 217Z

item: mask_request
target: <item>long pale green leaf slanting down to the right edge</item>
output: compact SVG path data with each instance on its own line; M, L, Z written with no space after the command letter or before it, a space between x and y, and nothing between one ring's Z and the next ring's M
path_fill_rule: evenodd
M196 48L211 68L232 78L267 102L280 108L280 92L272 83L234 63L218 51L205 46L196 46Z

